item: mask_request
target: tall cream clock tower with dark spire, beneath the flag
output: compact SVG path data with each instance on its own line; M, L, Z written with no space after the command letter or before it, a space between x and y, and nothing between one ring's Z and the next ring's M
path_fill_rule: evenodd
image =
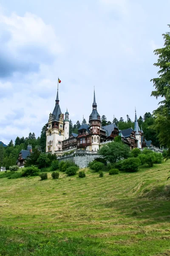
M56 151L62 151L62 141L64 140L64 115L61 113L59 107L58 88L55 102L54 111L52 114L50 113L48 123L46 124L46 152L51 154L58 154L59 152Z

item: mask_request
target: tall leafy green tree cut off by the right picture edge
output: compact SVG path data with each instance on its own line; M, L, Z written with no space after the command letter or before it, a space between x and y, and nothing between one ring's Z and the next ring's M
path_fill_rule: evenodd
M163 34L163 38L164 47L154 50L158 61L153 65L159 67L160 70L158 71L159 77L151 79L155 87L151 96L164 99L159 102L159 108L153 111L156 119L152 127L158 134L161 145L170 148L170 32Z

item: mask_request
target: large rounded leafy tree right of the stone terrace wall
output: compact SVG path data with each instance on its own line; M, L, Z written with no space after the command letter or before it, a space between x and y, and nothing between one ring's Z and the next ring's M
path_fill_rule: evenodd
M130 148L122 142L113 141L107 145L103 145L99 150L99 154L110 163L116 163L122 158L127 158L129 156Z

